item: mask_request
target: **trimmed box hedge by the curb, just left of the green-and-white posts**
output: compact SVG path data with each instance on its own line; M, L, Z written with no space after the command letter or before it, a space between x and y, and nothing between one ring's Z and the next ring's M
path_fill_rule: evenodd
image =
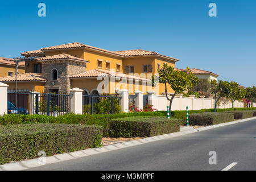
M127 117L110 121L110 137L152 137L180 131L181 119Z

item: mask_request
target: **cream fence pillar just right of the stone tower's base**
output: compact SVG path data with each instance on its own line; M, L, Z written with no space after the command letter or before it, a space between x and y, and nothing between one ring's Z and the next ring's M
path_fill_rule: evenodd
M71 111L74 114L82 114L82 92L84 90L79 88L73 88L69 90L73 96L71 97Z

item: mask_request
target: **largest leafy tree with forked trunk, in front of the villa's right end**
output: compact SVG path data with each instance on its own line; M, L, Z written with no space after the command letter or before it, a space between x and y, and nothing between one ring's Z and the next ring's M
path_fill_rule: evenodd
M163 64L163 67L159 70L158 81L165 86L166 98L170 101L169 112L171 113L172 101L177 93L183 93L184 91L191 89L193 85L197 84L199 78L193 75L193 73L187 68L187 71L177 71L174 67ZM174 90L174 95L171 99L167 95L167 84Z

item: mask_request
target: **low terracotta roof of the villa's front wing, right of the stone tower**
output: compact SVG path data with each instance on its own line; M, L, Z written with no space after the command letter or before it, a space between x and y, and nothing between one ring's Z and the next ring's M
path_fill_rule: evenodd
M98 76L115 76L115 77L121 77L121 78L130 78L130 79L135 79L135 80L148 81L146 78L131 76L131 75L127 75L125 73L112 72L112 71L102 70L102 69L91 69L84 73L79 73L77 75L72 75L70 77L71 78L84 78L84 77L98 77Z

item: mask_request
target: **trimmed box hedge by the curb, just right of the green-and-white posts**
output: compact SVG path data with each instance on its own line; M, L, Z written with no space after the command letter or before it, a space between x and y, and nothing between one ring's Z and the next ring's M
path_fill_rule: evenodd
M189 125L217 125L234 121L233 113L196 113L189 115Z

